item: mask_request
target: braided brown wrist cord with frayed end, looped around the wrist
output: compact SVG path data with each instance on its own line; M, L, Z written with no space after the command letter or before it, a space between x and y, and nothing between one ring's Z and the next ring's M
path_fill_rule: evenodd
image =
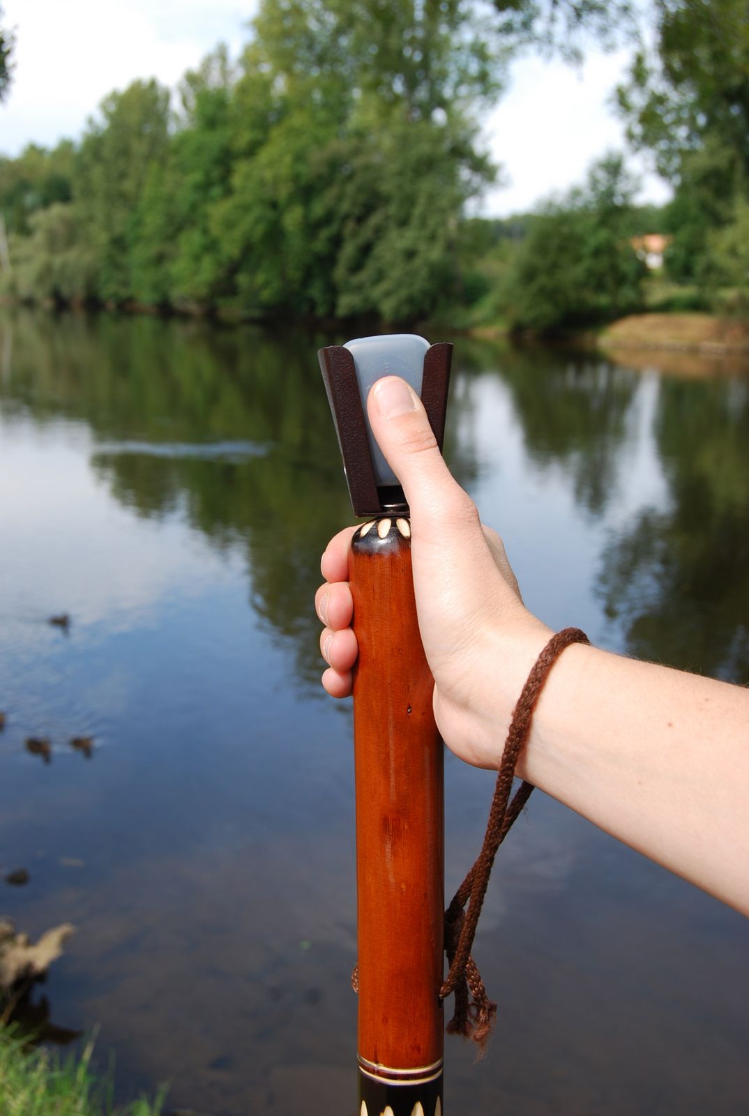
M487 997L483 981L471 956L473 935L497 850L534 789L529 782L521 782L510 801L515 768L530 733L538 699L551 667L561 652L573 643L589 643L589 639L579 628L557 632L544 647L528 675L512 712L481 852L444 915L444 947L450 970L440 989L440 999L444 1000L454 992L453 1017L448 1023L448 1031L471 1038L480 1048L483 1048L491 1033L497 1004ZM468 911L464 910L467 903Z

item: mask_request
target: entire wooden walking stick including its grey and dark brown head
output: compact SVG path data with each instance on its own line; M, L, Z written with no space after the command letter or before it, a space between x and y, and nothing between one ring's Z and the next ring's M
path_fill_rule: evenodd
M349 580L354 677L358 1116L441 1116L443 1021L442 742L416 623L403 490L366 421L383 375L409 379L442 444L451 345L361 338L320 349L357 516Z

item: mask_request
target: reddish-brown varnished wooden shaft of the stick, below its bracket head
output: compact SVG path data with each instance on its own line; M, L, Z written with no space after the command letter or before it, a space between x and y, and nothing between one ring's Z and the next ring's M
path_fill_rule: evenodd
M410 533L407 520L381 519L359 528L352 546L358 1055L365 1105L367 1096L378 1104L375 1086L394 1089L404 1103L407 1095L411 1116L422 1081L419 1103L434 1116L443 1047L442 744L416 623ZM400 1104L387 1104L398 1113Z

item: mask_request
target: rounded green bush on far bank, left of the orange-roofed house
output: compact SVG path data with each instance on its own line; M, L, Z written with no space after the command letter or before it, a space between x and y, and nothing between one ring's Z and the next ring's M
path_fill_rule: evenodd
M502 292L515 329L549 333L642 306L646 269L628 233L634 186L622 160L608 156L584 189L532 219Z

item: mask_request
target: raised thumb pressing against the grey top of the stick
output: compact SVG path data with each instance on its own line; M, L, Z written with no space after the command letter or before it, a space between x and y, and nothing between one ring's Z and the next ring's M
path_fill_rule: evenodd
M404 379L385 376L369 392L372 432L405 493L412 512L440 513L469 498L444 463L424 405Z

